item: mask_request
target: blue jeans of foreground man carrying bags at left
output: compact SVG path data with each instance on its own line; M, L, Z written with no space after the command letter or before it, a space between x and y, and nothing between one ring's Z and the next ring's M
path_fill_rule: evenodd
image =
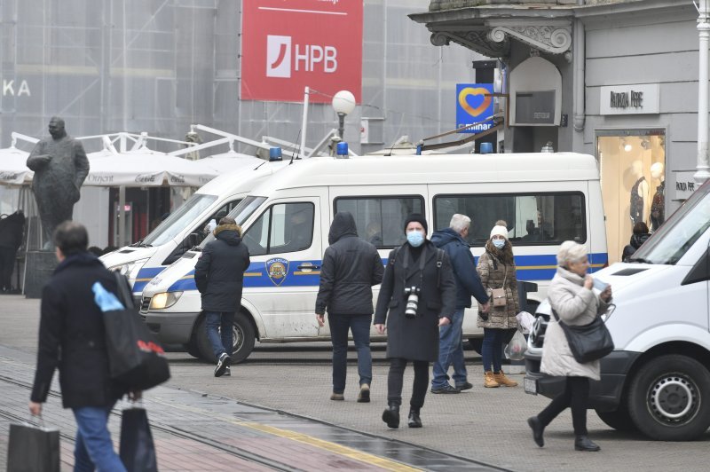
M106 427L114 405L73 408L76 419L75 472L125 472Z

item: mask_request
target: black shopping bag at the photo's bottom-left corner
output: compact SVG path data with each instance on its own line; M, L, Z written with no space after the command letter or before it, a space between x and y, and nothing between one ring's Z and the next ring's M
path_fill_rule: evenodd
M59 429L11 424L7 470L59 472Z

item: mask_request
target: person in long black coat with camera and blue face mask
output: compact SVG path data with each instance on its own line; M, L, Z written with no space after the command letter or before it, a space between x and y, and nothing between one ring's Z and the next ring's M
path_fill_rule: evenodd
M438 326L448 325L454 315L456 282L446 252L426 239L427 222L422 215L406 219L405 233L407 242L390 252L375 310L378 333L384 334L387 322L387 358L390 358L389 406L383 413L383 421L390 428L399 427L402 382L406 363L411 360L414 388L408 425L422 428L419 412L429 386L429 363L438 358ZM418 295L416 307L411 303L412 287Z

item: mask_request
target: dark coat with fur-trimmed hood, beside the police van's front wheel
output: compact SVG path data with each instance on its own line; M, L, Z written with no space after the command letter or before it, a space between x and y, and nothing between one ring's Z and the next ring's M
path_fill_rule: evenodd
M202 295L202 311L235 312L241 307L244 271L249 251L236 224L220 224L215 239L202 249L194 267L194 281Z

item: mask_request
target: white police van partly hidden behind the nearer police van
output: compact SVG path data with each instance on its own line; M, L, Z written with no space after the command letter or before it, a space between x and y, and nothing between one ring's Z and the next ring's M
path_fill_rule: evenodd
M212 179L144 240L101 256L101 261L109 270L128 277L133 296L139 300L146 283L207 236L212 220L226 216L256 185L285 165L254 158L248 166Z

